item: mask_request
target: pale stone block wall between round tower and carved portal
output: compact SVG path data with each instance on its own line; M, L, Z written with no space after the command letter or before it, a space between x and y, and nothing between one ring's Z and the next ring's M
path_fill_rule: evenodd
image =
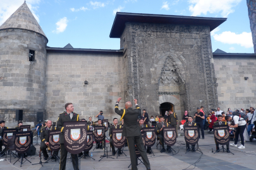
M95 121L102 110L105 118L112 122L114 117L119 118L114 113L114 105L116 99L123 98L123 84L121 54L47 52L47 118L56 122L59 113L64 111L64 104L71 102L80 118L88 120L88 116L92 116Z

